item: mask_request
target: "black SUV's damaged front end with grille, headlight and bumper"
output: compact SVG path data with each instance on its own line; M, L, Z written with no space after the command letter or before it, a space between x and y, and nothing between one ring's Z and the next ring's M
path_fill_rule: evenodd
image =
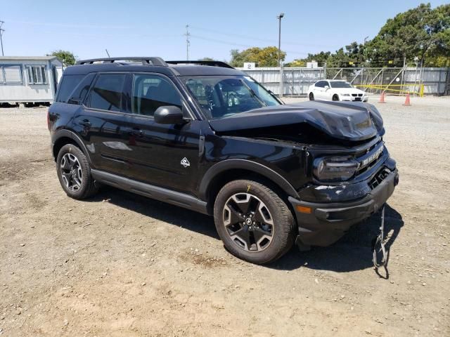
M399 183L396 163L379 136L364 145L341 150L311 147L309 157L311 183L298 191L298 198L289 198L297 217L300 245L333 244L349 227L377 212ZM333 161L332 179L328 180L326 173L323 180L316 163L336 157L346 160ZM338 178L340 175L342 178Z

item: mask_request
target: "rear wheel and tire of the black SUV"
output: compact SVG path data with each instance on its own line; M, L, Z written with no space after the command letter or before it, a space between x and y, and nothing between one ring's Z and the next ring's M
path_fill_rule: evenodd
M98 192L89 161L73 144L61 147L56 159L56 172L63 190L73 199L86 199Z

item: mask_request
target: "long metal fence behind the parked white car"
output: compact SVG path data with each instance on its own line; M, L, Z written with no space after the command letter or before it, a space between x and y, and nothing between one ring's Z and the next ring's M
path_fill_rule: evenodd
M450 68L402 67L402 68L306 68L306 67L262 67L244 70L266 88L277 95L307 95L308 88L320 79L343 79L363 90L380 93L419 93L425 95L450 94ZM281 86L280 79L283 78ZM390 91L387 88L401 88ZM423 88L422 88L423 86ZM383 87L384 89L380 88Z

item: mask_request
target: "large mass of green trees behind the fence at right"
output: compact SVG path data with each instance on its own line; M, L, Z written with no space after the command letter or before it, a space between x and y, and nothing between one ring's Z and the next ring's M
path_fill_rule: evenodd
M387 20L380 32L366 44L352 42L335 53L308 54L307 58L290 62L291 67L316 60L319 66L399 67L404 58L418 58L430 67L450 64L450 4L431 8L420 4ZM368 62L370 63L368 63Z

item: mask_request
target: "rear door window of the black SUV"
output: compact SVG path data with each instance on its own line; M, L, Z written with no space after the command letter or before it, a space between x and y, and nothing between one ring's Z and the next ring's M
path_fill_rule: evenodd
M94 109L120 111L124 74L100 74L91 89L87 105Z

